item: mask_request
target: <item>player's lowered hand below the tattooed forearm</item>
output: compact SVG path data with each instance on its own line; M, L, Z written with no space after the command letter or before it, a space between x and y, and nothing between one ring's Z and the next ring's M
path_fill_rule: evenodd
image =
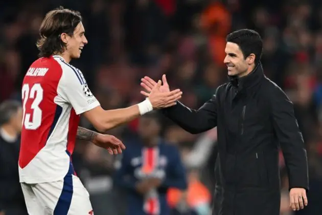
M121 140L112 135L98 134L93 143L99 147L106 148L111 155L121 154L122 149L126 148Z

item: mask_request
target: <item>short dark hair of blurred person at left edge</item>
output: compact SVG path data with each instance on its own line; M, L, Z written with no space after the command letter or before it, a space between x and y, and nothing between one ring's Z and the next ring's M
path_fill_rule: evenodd
M0 104L0 125L10 121L11 117L21 108L21 103L16 100L6 100Z

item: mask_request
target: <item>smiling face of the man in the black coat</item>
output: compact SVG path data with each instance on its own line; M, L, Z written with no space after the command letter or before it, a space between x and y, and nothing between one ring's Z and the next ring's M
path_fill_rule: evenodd
M246 75L249 65L249 59L245 59L242 51L237 44L227 42L225 48L226 57L224 63L227 66L229 76L242 77Z

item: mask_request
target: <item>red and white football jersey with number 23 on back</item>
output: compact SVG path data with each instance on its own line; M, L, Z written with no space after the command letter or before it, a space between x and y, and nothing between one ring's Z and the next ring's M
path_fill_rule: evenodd
M100 103L81 71L55 55L39 58L30 66L22 83L22 105L20 182L63 179L73 167L80 114Z

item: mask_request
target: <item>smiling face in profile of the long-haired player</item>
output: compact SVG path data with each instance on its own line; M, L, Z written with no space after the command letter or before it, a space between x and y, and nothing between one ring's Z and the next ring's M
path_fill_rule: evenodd
M74 35L72 37L67 36L67 51L70 53L71 58L79 58L83 47L87 44L84 33L84 26L80 22L74 30Z

